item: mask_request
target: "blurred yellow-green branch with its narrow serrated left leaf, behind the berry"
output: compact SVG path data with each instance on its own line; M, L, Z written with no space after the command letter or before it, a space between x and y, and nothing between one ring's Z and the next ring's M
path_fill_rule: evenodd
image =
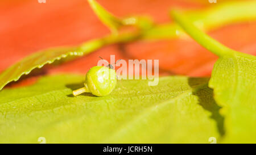
M95 51L105 45L123 43L137 39L163 39L179 36L181 28L175 23L154 25L152 21L143 16L134 16L119 19L106 11L97 2L89 1L93 10L103 23L109 26L110 30L117 32L120 26L134 25L141 31L126 34L102 37L100 39L88 41L77 47L52 48L34 53L18 63L10 66L0 74L0 90L9 82L17 81L23 74L29 74L35 68L42 68L45 64L51 64L55 60L60 60L69 56L83 56ZM245 21L256 18L256 1L224 3L207 10L189 11L187 15L195 24L200 25L204 30L219 27L222 24Z

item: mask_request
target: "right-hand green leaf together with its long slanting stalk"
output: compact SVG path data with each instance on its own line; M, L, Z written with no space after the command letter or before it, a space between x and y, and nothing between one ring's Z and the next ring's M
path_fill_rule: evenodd
M224 143L256 143L256 57L225 47L196 28L184 15L173 11L181 27L203 47L220 58L214 64L209 87L223 107Z

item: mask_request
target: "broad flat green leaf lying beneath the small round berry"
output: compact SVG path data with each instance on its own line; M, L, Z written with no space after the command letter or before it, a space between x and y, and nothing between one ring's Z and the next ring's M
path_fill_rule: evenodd
M209 143L222 126L207 78L162 77L118 81L106 97L72 90L84 76L41 78L0 92L0 142Z

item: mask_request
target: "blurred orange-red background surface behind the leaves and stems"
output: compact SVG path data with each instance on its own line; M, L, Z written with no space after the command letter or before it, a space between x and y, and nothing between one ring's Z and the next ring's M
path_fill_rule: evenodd
M117 16L150 15L156 23L170 22L172 7L201 9L218 5L200 0L97 0ZM38 0L0 2L0 72L40 49L60 45L77 45L109 33L90 9L86 0ZM208 32L214 39L237 51L256 55L256 21L230 24ZM160 73L210 76L217 57L192 39L136 41L110 45L88 56L54 67L43 68L44 74L81 73L97 65L98 56L110 59L159 59ZM28 81L31 79L27 79Z

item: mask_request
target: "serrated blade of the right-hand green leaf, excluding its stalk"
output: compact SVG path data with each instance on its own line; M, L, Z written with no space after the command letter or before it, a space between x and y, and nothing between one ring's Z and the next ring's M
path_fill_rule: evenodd
M256 143L256 57L221 57L209 82L224 106L226 143Z

